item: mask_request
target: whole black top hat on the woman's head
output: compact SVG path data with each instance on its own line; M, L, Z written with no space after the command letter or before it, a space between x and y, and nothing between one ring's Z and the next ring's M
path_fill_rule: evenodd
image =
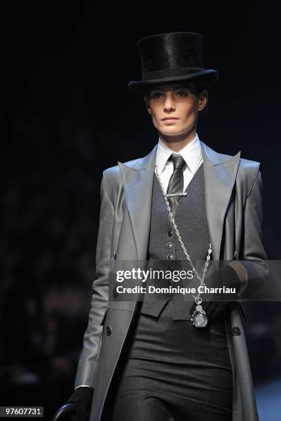
M138 93L156 85L195 80L209 87L218 80L218 72L203 65L201 34L156 34L140 39L136 45L141 54L142 80L132 80L128 87Z

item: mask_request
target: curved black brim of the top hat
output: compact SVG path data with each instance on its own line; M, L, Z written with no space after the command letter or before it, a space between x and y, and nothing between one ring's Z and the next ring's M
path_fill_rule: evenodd
M137 92L138 94L144 94L145 89L160 85L169 85L171 83L178 82L194 82L198 80L206 83L207 87L214 85L218 80L218 72L214 69L204 69L200 72L186 74L181 76L170 76L165 78L151 79L151 80L132 80L128 83L129 89Z

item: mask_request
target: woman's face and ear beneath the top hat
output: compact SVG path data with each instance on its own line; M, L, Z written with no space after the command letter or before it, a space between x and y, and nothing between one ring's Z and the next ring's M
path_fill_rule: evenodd
M159 133L165 136L188 135L196 129L198 111L205 108L208 93L205 90L198 96L191 87L193 85L189 83L149 89L147 111Z

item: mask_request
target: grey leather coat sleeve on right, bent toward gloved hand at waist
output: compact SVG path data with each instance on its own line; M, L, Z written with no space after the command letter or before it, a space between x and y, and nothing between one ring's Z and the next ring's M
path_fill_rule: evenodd
M260 294L266 285L268 266L262 245L262 175L256 171L244 205L244 227L240 263L247 272L240 298L247 299ZM241 300L241 301L242 301Z

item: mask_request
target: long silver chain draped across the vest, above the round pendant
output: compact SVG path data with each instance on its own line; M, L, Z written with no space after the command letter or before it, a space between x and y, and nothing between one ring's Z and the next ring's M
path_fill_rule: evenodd
M157 164L156 164L156 163L155 163L155 174L156 174L156 177L157 177L158 182L159 182L159 184L160 184L160 187L161 187L161 189L162 189L162 191L163 191L163 195L164 195L164 198L165 198L165 202L166 202L166 204L167 204L167 210L168 210L168 213L169 213L169 218L171 219L171 224L172 224L172 225L173 225L173 227L174 227L174 230L175 230L176 235L177 235L177 237L178 237L178 241L180 241L180 246L182 246L182 248L183 248L183 252L185 253L185 256L186 256L187 260L189 261L189 264L190 264L190 266L191 266L191 268L192 268L193 272L196 274L196 277L197 277L198 281L200 282L200 286L202 286L202 285L203 285L203 286L206 286L206 284L205 284L205 282L204 282L204 279L205 279L205 276L206 276L206 273L207 273L207 270L208 270L209 260L210 260L210 258L211 258L211 243L209 244L208 255L207 255L207 259L206 259L206 261L205 261L205 268L204 268L204 270L203 270L203 274L202 274L202 278L201 278L201 277L199 276L199 274L198 274L198 272L197 272L197 270L196 270L196 268L195 268L194 264L192 263L191 258L189 257L189 254L188 254L188 252L187 252L187 249L185 248L185 244L183 244L183 240L182 240L182 239L181 239L181 237L180 237L180 233L179 233L178 228L177 228L177 226L176 226L176 222L175 222L175 219L174 219L173 213L171 212L171 207L169 206L169 201L168 201L168 199L167 199L167 195L166 195L165 190L164 190L164 188L163 188L163 184L162 184L162 182L161 182L161 180L160 180L160 175L159 175L159 173L158 173L158 166L157 166ZM197 295L197 296L194 296L194 295L193 295L193 297L194 297L194 299L195 299L195 301L196 301L196 304L200 304L200 303L202 303L202 299L201 299L201 297L200 297L200 293L198 293L198 295Z

